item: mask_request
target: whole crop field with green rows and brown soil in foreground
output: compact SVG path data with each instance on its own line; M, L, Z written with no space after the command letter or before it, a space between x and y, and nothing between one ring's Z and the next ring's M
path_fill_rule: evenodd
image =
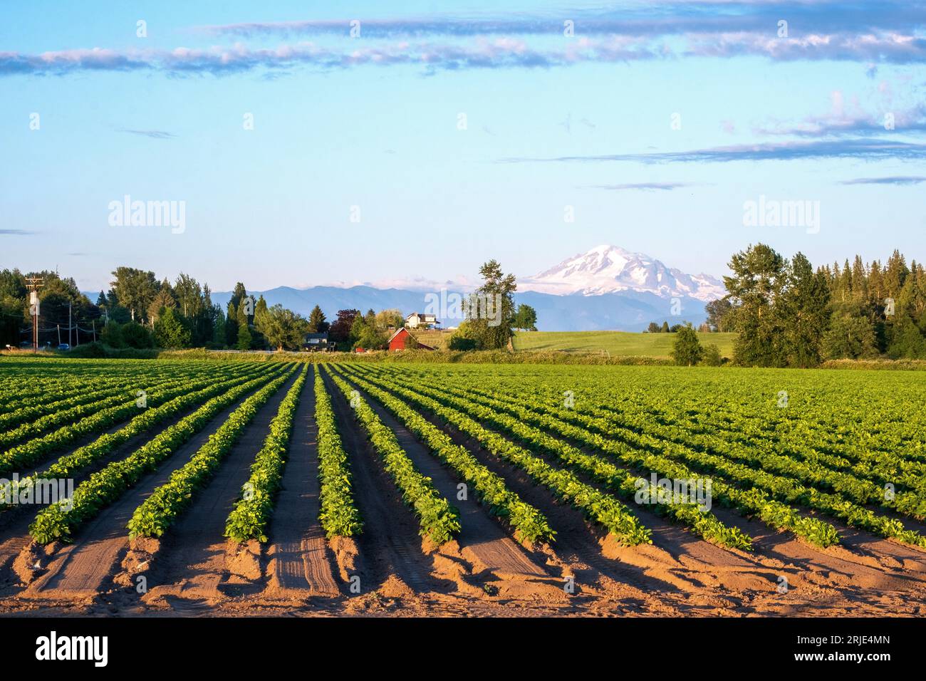
M924 408L917 372L6 357L0 612L922 616Z

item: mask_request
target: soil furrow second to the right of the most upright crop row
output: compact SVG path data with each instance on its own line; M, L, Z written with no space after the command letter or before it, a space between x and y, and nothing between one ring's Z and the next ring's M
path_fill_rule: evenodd
M359 385L349 381L368 402L382 422L395 434L420 473L432 479L437 490L457 506L460 511L460 533L456 537L462 557L469 562L477 582L497 579L508 582L496 585L506 595L514 592L529 594L532 589L546 595L563 594L561 583L528 555L525 549L507 536L502 526L488 515L488 511L475 498L457 500L459 481L442 465L415 435L398 422L382 405L370 397ZM545 584L543 584L545 582ZM554 586L555 585L555 586ZM553 591L550 591L553 586Z

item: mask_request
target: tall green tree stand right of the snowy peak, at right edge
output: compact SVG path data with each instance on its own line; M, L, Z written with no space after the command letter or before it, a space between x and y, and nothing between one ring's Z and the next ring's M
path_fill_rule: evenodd
M733 255L727 295L706 306L716 331L736 332L733 361L813 367L824 359L926 359L926 271L897 250L816 270L765 244Z

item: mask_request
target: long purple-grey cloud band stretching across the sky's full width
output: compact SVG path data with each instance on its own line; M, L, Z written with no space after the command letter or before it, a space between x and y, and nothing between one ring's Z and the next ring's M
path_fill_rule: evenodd
M820 33L778 38L768 32L704 33L669 44L645 35L574 38L532 46L518 37L481 36L468 43L314 43L252 48L244 44L173 50L112 50L100 47L42 54L0 52L0 76L67 75L80 71L160 71L169 75L225 75L264 69L265 75L297 66L347 69L358 66L418 66L427 71L548 69L582 63L630 63L679 57L767 57L775 61L854 60L862 63L926 63L926 38L911 33Z

